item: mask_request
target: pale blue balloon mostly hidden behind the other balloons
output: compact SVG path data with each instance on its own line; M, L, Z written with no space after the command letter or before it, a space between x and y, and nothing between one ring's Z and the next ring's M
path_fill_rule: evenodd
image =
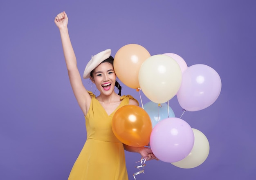
M150 101L144 104L144 110L148 113L153 128L161 120L164 120L166 118L175 118L173 109L171 109L170 106L168 113L168 104L166 103L162 103L160 104L160 106L158 106L157 103Z

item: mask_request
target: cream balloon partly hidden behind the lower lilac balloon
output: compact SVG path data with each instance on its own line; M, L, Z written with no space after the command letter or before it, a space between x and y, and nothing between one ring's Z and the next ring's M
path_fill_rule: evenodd
M209 155L210 145L207 137L197 129L192 128L192 130L195 138L194 146L186 158L171 163L176 167L184 169L198 167L207 159Z

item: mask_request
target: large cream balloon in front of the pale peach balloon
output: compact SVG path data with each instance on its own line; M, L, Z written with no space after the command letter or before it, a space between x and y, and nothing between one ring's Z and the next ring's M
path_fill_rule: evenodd
M158 54L147 58L139 69L141 91L155 103L164 103L173 98L181 82L179 64L166 55Z

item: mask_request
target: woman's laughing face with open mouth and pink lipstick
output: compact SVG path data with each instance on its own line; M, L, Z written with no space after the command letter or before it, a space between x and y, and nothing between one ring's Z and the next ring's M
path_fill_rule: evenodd
M114 92L116 74L113 65L109 62L99 64L94 71L92 71L91 80L95 83L100 93L108 96Z

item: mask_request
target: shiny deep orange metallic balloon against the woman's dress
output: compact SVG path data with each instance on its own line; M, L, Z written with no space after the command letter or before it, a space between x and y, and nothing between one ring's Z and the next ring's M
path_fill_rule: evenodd
M112 131L122 143L142 147L150 140L152 123L144 109L135 105L126 105L115 112L112 118Z

